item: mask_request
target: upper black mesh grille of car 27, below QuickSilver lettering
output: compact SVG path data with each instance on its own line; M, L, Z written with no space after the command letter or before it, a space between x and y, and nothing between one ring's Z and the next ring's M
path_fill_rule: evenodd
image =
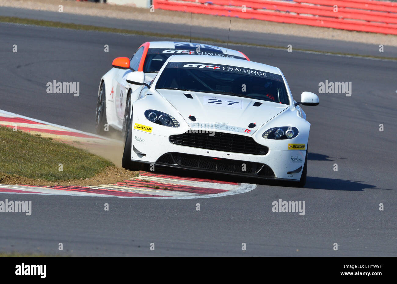
M269 148L256 143L252 137L224 132L185 132L171 135L170 142L176 145L223 152L266 155Z

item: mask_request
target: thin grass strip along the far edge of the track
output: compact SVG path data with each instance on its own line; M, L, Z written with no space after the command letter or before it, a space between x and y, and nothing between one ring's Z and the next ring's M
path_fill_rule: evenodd
M36 26L53 27L53 28L61 28L61 29L99 31L99 32L107 32L107 33L121 33L121 34L128 34L128 35L144 35L144 36L154 36L154 37L160 37L160 38L178 38L178 39L182 39L182 40L190 40L190 36L184 36L184 35L154 33L154 32L148 32L148 31L134 31L134 30L116 29L116 28L108 28L108 27L97 27L97 26L93 26L93 25L80 25L80 24L74 24L74 23L62 23L62 22L57 22L57 21L25 19L25 18L18 18L18 17L0 16L0 22L17 23L17 24L24 24L24 25L36 25ZM202 37L195 37L195 36L192 36L191 40L195 40L195 41L199 41L199 42L215 42L215 43L224 43L224 44L227 43L225 40L220 40L220 39L216 39L216 38L202 38ZM232 42L232 41L230 41L229 44L257 46L257 47L262 47L262 48L274 48L274 49L285 50L285 46L272 46L272 45L267 45L267 44L253 44L253 43L249 43L249 42ZM343 53L343 52L328 52L328 51L323 52L323 51L319 51L319 50L308 50L308 49L299 49L299 48L294 48L294 50L302 51L302 52L320 53L320 54L325 53L325 54L342 55L342 56L355 56L355 57L362 57L362 58L397 60L397 58L394 58L394 57L350 54L350 53Z

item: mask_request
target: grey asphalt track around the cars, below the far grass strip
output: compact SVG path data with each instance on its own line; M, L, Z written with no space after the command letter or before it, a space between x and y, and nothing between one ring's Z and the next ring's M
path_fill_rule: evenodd
M93 132L101 75L112 59L130 56L147 40L156 38L0 23L0 109ZM352 83L350 97L319 94L319 106L304 107L312 123L306 188L258 184L245 194L198 200L0 194L0 201L32 201L31 216L1 213L0 251L397 256L396 61L233 48L278 66L295 100L302 91L318 93L325 80ZM46 83L53 80L80 82L80 96L47 94ZM305 215L272 212L280 198L305 201ZM64 251L58 251L60 242Z

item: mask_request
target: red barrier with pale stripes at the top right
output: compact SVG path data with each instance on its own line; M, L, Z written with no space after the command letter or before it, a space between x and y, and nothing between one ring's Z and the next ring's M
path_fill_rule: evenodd
M153 0L155 9L397 35L397 3L373 0Z

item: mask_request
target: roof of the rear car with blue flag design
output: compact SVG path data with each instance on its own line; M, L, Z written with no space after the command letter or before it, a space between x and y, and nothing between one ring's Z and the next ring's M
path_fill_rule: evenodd
M227 55L231 55L231 56L245 58L244 54L242 54L241 52L234 50L234 49L224 48L224 47L220 47L220 46L214 46L214 45L210 45L210 44L195 43L195 42L151 41L151 42L149 42L149 49L150 48L172 48L172 49L178 49L178 50L183 50L183 49L195 50L197 48L197 45L200 46L201 51L216 52L216 53L227 54Z

